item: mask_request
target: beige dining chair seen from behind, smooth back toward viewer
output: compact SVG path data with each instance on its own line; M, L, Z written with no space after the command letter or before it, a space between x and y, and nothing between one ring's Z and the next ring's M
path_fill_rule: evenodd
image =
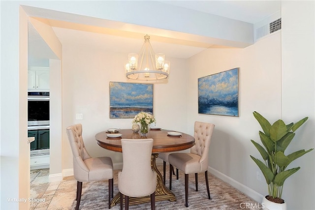
M129 208L129 197L150 195L151 209L155 210L157 173L152 171L151 154L153 139L122 139L123 170L118 172L120 209Z

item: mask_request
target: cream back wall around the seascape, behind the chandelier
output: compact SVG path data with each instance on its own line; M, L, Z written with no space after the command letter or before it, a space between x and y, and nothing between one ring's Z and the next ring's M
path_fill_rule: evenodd
M72 168L65 128L75 123L83 125L85 146L91 156L109 155L114 164L122 162L121 153L96 144L95 134L107 128L131 128L132 119L109 118L109 82L135 82L126 79L123 68L126 59L125 54L63 45L63 169ZM154 115L162 128L185 132L186 60L169 60L171 74L167 83L154 84ZM76 113L82 113L83 120L75 120Z

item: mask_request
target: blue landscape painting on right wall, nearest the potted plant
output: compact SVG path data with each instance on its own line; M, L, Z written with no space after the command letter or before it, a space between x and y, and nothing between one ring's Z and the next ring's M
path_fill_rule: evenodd
M238 117L238 70L198 78L198 113Z

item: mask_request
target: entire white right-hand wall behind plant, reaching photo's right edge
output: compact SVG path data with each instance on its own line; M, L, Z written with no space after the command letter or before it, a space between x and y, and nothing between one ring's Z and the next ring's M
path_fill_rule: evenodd
M283 119L290 123L308 116L310 119L296 132L286 154L315 148L314 4L283 1L281 33L245 49L208 49L189 59L188 97L193 100L188 101L188 130L195 120L216 124L209 156L211 172L259 202L259 196L267 195L268 191L265 182L256 180L259 169L249 156L260 157L250 142L260 141L261 128L252 116L253 111L270 122ZM197 79L235 67L240 67L240 116L197 114ZM283 198L288 210L314 209L314 156L312 151L290 164L301 169L284 183Z

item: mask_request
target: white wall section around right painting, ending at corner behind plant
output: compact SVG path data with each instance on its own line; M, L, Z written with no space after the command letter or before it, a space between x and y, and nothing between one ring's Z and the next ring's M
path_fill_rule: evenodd
M239 67L239 117L198 114L198 78L236 67ZM251 139L260 141L260 126L252 112L257 111L268 120L281 117L281 34L245 49L208 49L199 53L189 59L188 84L189 98L192 98L188 102L189 129L193 129L196 120L216 125L210 147L210 167L266 194L264 182L256 180L259 168L250 158L250 154L260 157L250 142Z

